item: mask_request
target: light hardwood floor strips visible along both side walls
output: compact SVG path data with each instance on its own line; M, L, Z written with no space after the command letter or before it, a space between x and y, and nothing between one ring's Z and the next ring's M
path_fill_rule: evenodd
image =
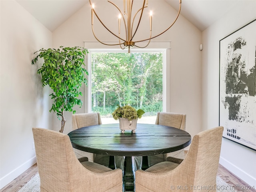
M30 180L30 178L37 172L38 172L37 164L34 164L32 167L30 167L28 170L26 170L24 173L22 173L12 182L6 185L4 188L2 188L0 192L15 192L20 188L20 186L22 186L22 184L25 184L26 182L28 182L28 180ZM249 185L246 184L246 182L236 177L234 174L229 172L226 168L224 168L220 164L218 168L218 174L220 174L222 177L229 180L228 183L232 184L234 188L239 192L256 192L256 190L253 190L253 189L248 190Z

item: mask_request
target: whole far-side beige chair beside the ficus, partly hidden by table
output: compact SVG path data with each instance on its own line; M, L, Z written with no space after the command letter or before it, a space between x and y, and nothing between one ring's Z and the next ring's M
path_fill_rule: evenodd
M81 113L81 114L73 114L72 115L72 129L76 130L82 127L92 126L92 125L101 125L100 113ZM89 161L96 162L98 164L108 166L109 164L109 156L108 155L100 155L100 154L92 154L89 152L81 151L78 149L74 149L76 155L86 156Z

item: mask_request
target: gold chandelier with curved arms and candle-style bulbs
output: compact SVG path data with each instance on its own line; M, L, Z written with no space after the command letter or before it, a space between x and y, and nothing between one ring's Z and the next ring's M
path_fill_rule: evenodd
M108 0L109 3L111 3L112 5L114 5L118 11L119 11L119 17L118 17L118 34L112 32L109 28L106 27L106 25L102 22L102 20L100 20L98 14L95 11L95 7L94 4L91 2L91 0L89 0L90 2L90 6L91 6L91 11L92 11L92 33L94 35L94 37L96 38L96 40L98 40L98 42L104 44L104 45L120 45L120 48L124 49L124 48L128 48L128 53L130 53L130 48L138 47L138 48L146 48L149 43L150 40L153 38L156 38L158 36L160 36L161 34L163 34L164 32L166 32L168 29L170 29L173 24L176 22L176 20L178 19L178 16L180 14L180 9L181 9L181 0L180 0L180 8L178 11L178 15L176 16L174 22L172 22L172 24L163 32L161 32L160 34L156 35L156 36L152 36L152 11L150 11L150 16L149 16L149 21L150 21L150 36L143 39L143 40L136 40L134 41L133 38L138 30L138 27L140 25L141 22L141 18L144 12L145 8L148 8L148 0L143 0L143 4L140 8L137 8L137 12L134 14L134 16L132 16L132 8L133 8L133 2L134 0L123 0L123 12L121 11L121 9L114 4L112 1ZM94 15L98 18L98 20L100 21L100 23L102 24L102 26L104 26L111 34L113 34L114 36L116 36L119 40L118 44L107 44L104 43L102 41L100 41L95 33L94 33L94 28L93 28L93 23L94 23ZM136 23L135 26L135 30L134 29L134 21L136 16L138 15L138 23ZM121 28L121 20L124 22L124 28L125 28L125 38L120 36L120 28ZM144 42L144 41L148 41L148 43L146 44L146 46L137 46L136 43L137 42ZM124 45L124 47L122 47L122 44Z

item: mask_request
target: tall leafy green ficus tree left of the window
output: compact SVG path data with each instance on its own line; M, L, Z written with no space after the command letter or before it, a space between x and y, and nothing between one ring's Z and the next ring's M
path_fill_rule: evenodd
M34 54L36 53L38 55L32 60L32 64L35 64L38 58L44 59L37 72L42 75L42 86L49 85L52 88L53 93L49 95L53 99L50 112L53 111L61 119L60 132L63 132L66 124L64 111L75 113L73 107L81 107L83 103L78 96L82 96L82 84L87 85L85 74L88 75L88 71L84 68L84 59L88 50L60 46L58 49L42 48Z

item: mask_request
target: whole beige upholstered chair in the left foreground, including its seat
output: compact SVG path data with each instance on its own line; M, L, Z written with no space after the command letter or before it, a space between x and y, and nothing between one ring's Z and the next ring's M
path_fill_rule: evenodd
M41 192L120 192L122 170L77 159L68 135L32 128Z

